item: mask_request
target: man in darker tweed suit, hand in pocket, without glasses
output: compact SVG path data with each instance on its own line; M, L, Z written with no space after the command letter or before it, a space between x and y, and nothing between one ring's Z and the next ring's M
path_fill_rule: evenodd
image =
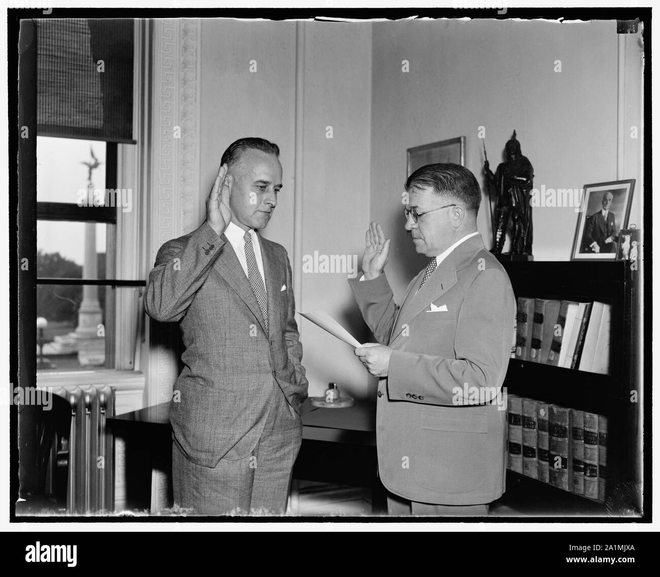
M286 250L259 234L282 187L279 148L234 142L207 219L166 242L145 309L178 322L185 351L170 404L174 502L197 514L281 514L308 382Z

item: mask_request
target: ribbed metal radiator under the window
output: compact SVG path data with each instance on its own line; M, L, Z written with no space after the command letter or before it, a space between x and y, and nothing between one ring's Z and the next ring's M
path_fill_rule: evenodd
M71 430L65 443L69 449L67 513L110 512L114 510L114 451L106 421L114 416L115 391L106 385L59 387L53 393L71 405ZM56 453L51 452L51 459L57 458ZM51 462L51 470L55 464Z

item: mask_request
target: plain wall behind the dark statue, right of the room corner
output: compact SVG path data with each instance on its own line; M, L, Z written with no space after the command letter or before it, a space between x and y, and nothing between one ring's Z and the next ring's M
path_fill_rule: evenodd
M482 187L478 226L487 248L492 232L480 127L493 172L515 129L534 167L535 188L579 189L617 180L617 37L614 21L374 24L371 214L392 237L388 275L395 295L427 261L414 253L403 230L409 147L466 137L465 166ZM561 72L555 71L557 60ZM636 94L639 101L635 81L639 85L638 78L631 79L629 98ZM621 178L638 178L638 201L638 164L630 160L625 172ZM534 259L570 260L577 219L572 207L534 208Z

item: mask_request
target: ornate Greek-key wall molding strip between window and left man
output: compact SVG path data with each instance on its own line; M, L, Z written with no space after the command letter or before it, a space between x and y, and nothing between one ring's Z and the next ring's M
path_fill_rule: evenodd
M150 266L158 248L199 226L199 58L201 22L198 18L151 21L151 74L146 80L150 183L145 231ZM172 398L178 376L178 329L149 323L145 404ZM152 473L151 510L165 506L168 478Z

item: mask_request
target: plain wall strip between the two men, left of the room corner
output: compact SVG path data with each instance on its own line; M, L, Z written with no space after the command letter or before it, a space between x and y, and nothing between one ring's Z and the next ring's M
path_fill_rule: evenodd
M371 24L310 22L304 28L302 254L346 255L359 269L370 213ZM303 271L302 310L326 310L365 342L347 278ZM376 380L350 345L307 320L302 343L310 396L322 395L329 382L354 397L376 393Z

